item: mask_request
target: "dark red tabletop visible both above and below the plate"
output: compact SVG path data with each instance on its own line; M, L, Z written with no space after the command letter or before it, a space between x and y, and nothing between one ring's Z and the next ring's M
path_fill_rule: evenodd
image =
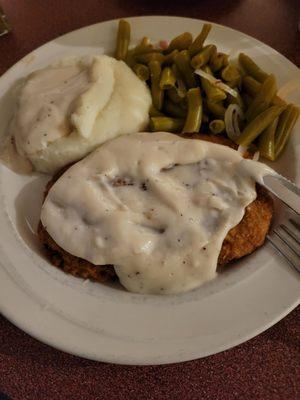
M0 39L0 74L36 47L71 30L119 17L155 14L230 26L300 65L297 0L0 3L13 26L13 32ZM145 367L104 364L65 354L0 317L0 392L14 400L299 399L299 317L298 308L258 337L205 359Z

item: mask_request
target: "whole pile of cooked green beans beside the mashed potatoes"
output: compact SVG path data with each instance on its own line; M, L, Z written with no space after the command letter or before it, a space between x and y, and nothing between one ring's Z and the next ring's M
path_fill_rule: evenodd
M120 20L115 58L126 62L150 88L151 131L227 136L225 113L230 104L237 104L245 119L240 121L236 143L251 145L273 161L285 148L299 109L277 96L275 76L248 55L240 53L238 63L232 63L214 44L207 44L210 30L211 24L204 24L195 38L184 32L164 48L147 37L131 47L130 24ZM214 81L198 76L196 69Z

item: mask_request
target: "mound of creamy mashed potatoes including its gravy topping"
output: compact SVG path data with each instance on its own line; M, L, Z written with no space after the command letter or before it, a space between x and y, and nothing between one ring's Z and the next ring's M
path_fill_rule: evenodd
M142 131L151 96L122 61L105 55L33 72L12 121L17 151L53 173L115 136Z

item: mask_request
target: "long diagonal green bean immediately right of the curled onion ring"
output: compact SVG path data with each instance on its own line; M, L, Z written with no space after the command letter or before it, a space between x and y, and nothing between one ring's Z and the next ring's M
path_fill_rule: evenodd
M285 107L271 106L253 119L237 138L236 143L248 146L253 142L273 121L277 118Z

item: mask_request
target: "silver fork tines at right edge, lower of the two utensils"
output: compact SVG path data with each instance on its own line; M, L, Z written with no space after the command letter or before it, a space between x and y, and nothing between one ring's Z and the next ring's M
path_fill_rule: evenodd
M299 215L294 212L278 227L267 235L271 245L285 260L300 272L300 223Z

